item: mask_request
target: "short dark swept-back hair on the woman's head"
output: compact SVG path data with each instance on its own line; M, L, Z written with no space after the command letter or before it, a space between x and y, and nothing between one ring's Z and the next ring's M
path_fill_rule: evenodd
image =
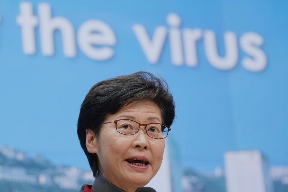
M96 154L86 148L86 130L99 136L108 114L114 114L134 101L151 100L161 110L162 124L170 127L175 117L175 103L167 82L149 72L136 72L96 83L87 93L78 118L78 138L88 158L94 177L98 170Z

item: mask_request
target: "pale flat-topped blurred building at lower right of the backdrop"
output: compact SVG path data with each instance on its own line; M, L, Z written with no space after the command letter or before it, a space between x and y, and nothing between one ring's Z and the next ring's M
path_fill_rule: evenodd
M265 158L259 151L224 154L227 192L273 192Z

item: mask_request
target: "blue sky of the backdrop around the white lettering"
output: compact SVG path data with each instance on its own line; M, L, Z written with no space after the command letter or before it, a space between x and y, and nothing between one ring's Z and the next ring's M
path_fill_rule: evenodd
M90 19L109 25L117 43L107 61L88 58L77 41L76 57L65 57L59 31L54 34L55 54L44 56L39 27L36 53L24 54L16 24L20 2L0 2L0 146L88 170L76 133L86 93L98 81L144 70L164 77L175 97L177 118L168 138L179 149L183 167L211 172L223 167L224 152L254 149L271 165L288 166L286 1L46 1L52 16L68 19L75 34ZM38 16L37 6L43 1L28 2ZM203 39L197 43L196 67L175 66L168 37L159 62L149 63L132 26L145 26L152 37L158 26L169 29L169 13L180 16L180 30L215 32L220 56L225 55L224 32L234 32L238 43L246 32L259 34L267 67L261 72L242 67L247 54L238 45L237 65L218 70L207 60Z

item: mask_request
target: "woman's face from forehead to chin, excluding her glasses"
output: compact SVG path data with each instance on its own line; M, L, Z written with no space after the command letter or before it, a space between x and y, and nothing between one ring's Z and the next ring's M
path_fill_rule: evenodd
M122 107L117 113L108 115L104 122L118 119L131 119L141 124L162 123L160 108L148 100ZM141 126L137 134L123 135L116 131L114 123L104 124L96 140L99 170L108 181L124 190L146 185L162 163L165 140L149 137L144 129ZM129 163L131 159L149 163L133 165Z

